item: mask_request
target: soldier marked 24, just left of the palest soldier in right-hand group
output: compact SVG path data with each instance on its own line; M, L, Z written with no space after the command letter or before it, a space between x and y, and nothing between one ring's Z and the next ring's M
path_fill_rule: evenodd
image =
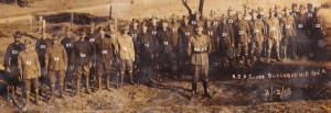
M263 44L265 42L265 23L261 19L257 19L257 13L255 10L252 10L252 50L250 56L252 59L255 59L256 56L257 60L260 61Z

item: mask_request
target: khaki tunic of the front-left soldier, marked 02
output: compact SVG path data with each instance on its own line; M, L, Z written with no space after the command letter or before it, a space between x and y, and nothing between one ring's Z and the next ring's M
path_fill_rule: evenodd
M35 50L19 54L19 70L23 79L38 78L41 75L40 63Z

